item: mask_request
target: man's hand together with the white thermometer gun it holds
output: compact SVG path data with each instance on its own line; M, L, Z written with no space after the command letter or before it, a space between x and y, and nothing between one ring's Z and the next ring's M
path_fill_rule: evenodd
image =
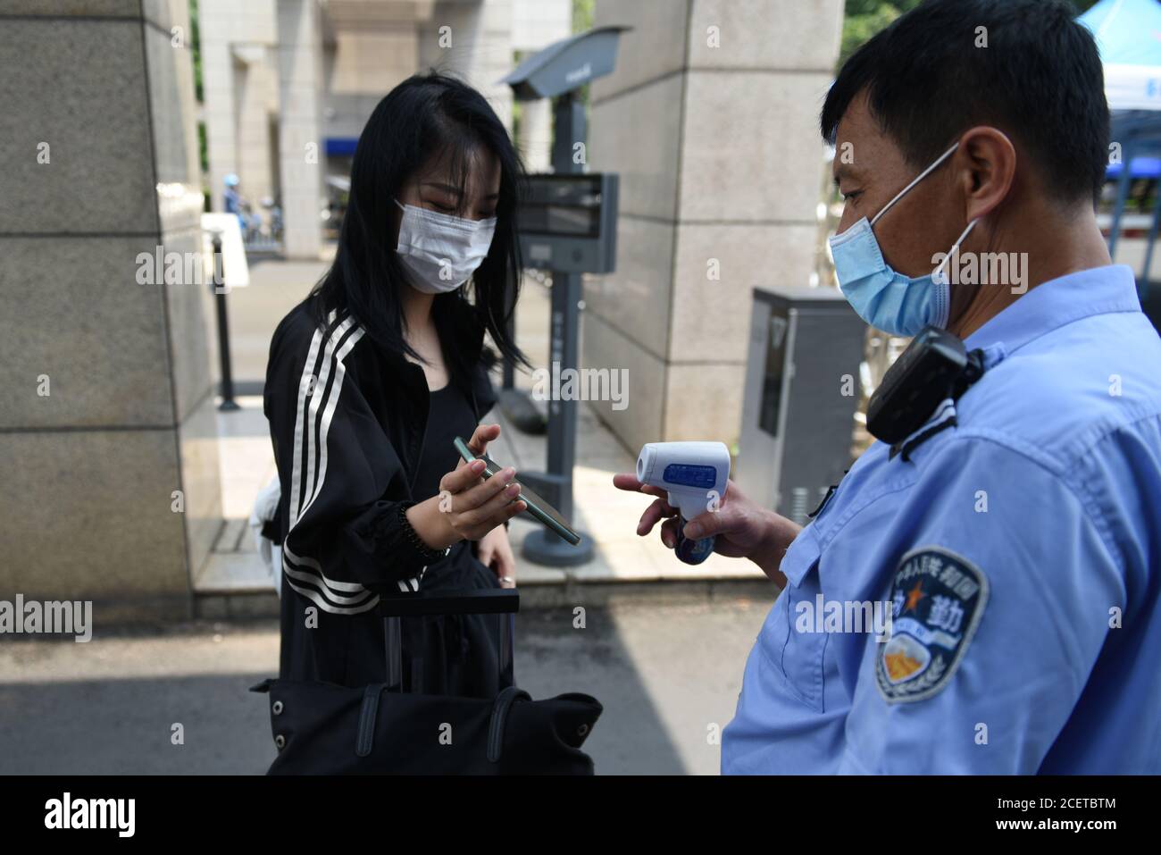
M729 451L721 443L649 443L635 474L613 476L613 486L656 496L637 524L646 536L662 519L661 539L686 563L711 552L748 558L779 585L783 555L801 527L747 498L729 481Z

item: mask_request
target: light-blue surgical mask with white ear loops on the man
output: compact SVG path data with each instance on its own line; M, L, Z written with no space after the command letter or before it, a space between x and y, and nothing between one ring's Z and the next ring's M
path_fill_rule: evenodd
M959 245L978 221L973 220L967 224L951 252L932 273L915 279L904 276L887 265L872 227L958 148L959 143L956 143L940 155L938 160L887 202L873 220L868 222L863 217L842 235L830 238L835 274L846 301L859 317L892 336L915 336L929 325L946 329L951 311L951 283L946 266L952 258L958 257Z

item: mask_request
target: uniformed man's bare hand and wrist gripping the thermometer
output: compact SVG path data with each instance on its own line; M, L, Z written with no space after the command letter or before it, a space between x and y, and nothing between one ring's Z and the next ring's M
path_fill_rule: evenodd
M665 490L643 484L635 475L627 473L614 475L613 486L621 490L657 496L641 515L637 534L644 537L664 519L661 526L661 541L670 549L677 547L677 509L669 503L669 494ZM786 576L778 570L778 566L800 531L801 526L755 504L737 488L737 484L729 481L721 506L686 520L683 533L694 540L716 536L714 552L729 558L748 558L771 580L785 587Z

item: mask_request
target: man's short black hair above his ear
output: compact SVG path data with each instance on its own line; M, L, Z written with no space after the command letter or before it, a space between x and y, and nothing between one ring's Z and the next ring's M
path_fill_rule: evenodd
M928 0L843 65L822 136L835 142L865 89L871 114L916 168L968 128L990 124L1031 155L1053 197L1095 200L1109 103L1096 42L1074 15L1063 0ZM987 46L976 46L983 36Z

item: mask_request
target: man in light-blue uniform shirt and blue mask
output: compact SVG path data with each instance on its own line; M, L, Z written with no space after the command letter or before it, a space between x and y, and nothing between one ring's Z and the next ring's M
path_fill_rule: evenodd
M1062 1L928 0L845 64L822 131L851 304L954 333L982 375L805 529L733 484L686 524L785 585L722 771L1161 771L1161 340L1094 213L1093 36ZM886 627L846 625L877 603Z

